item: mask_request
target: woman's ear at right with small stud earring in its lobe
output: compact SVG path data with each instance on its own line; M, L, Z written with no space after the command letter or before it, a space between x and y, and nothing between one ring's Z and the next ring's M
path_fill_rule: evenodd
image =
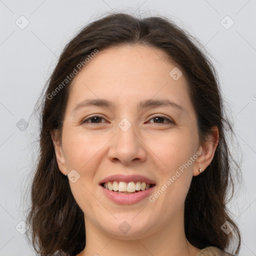
M198 148L198 151L201 152L201 154L195 160L193 176L200 174L199 168L204 171L210 164L218 144L218 139L218 128L217 126L213 126L211 134L208 135L206 141L204 141Z

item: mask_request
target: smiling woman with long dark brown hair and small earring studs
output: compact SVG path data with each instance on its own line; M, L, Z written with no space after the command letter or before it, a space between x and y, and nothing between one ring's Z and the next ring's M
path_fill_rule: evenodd
M217 76L171 21L88 24L41 106L27 216L40 255L230 255L231 242L238 253Z

